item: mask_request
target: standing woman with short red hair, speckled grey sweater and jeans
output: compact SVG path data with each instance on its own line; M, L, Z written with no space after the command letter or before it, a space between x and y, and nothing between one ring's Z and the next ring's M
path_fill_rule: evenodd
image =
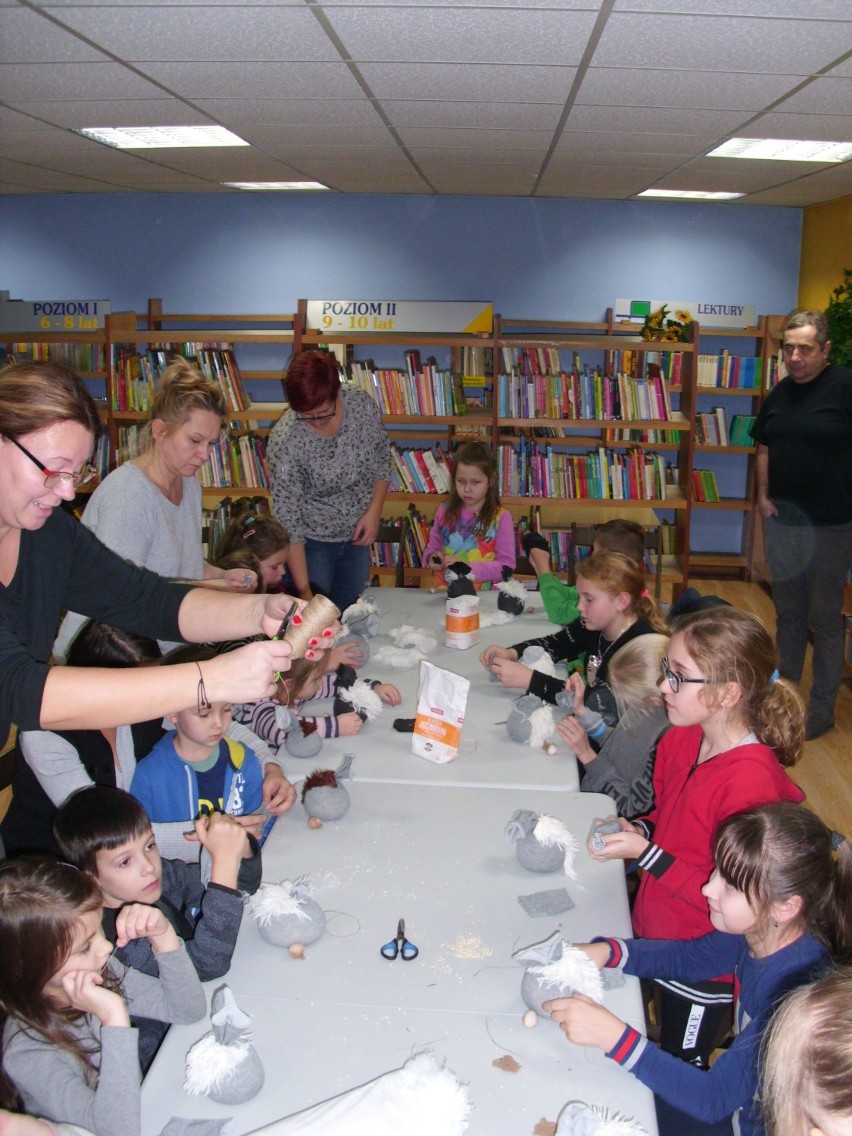
M369 577L391 479L387 432L375 401L341 386L337 360L302 351L284 379L290 409L273 428L267 463L273 511L290 532L295 592L327 595L341 611Z

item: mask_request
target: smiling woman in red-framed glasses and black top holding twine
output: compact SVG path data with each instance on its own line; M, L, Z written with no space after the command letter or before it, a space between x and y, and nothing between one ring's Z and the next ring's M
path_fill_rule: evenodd
M47 362L0 371L0 738L20 729L103 729L192 704L275 693L290 644L273 641L292 601L162 579L110 551L59 508L90 474L98 410L74 371ZM127 526L134 518L128 512ZM60 615L159 640L269 636L203 666L78 669L49 665ZM312 655L314 648L308 651Z

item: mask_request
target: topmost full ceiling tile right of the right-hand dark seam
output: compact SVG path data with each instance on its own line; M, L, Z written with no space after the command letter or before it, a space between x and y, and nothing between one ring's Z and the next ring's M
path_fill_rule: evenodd
M732 16L613 12L593 64L635 67L648 59L674 70L762 72L776 75L790 59L810 75L849 50L849 24Z

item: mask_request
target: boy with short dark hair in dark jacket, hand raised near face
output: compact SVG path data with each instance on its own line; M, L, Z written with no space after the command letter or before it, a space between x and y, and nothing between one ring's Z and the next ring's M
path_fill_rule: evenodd
M220 978L231 958L243 913L243 896L260 886L260 849L233 817L199 817L195 834L202 866L160 857L151 821L135 797L120 788L92 785L58 810L53 830L62 857L89 872L103 894L103 932L116 943L116 919L127 903L159 908L186 943L202 982ZM202 879L202 869L207 883ZM120 946L117 958L134 970L159 974L148 939ZM140 1063L148 1069L166 1029L139 1022Z

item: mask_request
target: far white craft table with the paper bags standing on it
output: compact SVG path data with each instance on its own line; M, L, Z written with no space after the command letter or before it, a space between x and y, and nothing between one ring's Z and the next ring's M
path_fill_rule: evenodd
M544 615L537 592L529 593L528 605L535 608L534 612L525 612L508 624L484 628L479 634L478 646L466 651L444 646L444 593L433 595L417 588L370 588L366 595L382 611L379 634L370 641L374 653L383 645L392 645L386 635L389 628L402 624L426 628L437 638L437 646L427 655L429 662L470 679L459 754L454 761L437 766L411 753L411 736L396 733L393 720L414 718L417 712L419 665L399 670L374 662L370 658L361 668L361 675L393 683L402 694L402 704L384 707L381 717L374 722L366 722L356 737L326 740L317 758L302 761L283 753L291 779L306 776L310 769L336 768L344 753L354 753L358 760L352 775L358 780L495 787L526 785L551 791L578 787L577 761L558 736L553 738L558 750L553 757L509 738L506 719L513 701L523 691L508 690L499 683L488 682L488 675L479 662L479 653L487 644L511 646L512 643L538 635L552 635L559 629ZM481 615L494 612L496 600L496 592L481 593ZM329 713L329 707L331 703L309 703L306 712L312 713L316 708L317 713Z

